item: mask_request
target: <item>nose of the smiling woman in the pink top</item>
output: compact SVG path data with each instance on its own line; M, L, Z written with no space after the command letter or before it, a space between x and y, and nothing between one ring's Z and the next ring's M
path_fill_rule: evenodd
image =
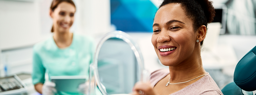
M157 38L157 42L164 43L171 41L171 37L169 36L168 31L161 31L160 35Z

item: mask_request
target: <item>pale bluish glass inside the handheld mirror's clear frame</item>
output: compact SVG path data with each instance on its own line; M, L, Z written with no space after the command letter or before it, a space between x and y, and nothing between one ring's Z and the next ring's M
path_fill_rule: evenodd
M110 38L100 48L98 73L108 94L131 93L139 81L137 67L131 47L122 39Z

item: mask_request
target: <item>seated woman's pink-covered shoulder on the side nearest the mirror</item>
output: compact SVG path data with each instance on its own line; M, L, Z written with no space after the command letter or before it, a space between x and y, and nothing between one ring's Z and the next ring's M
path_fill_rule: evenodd
M161 79L163 79L169 73L169 69L159 69L152 72L150 75L151 86L155 86Z

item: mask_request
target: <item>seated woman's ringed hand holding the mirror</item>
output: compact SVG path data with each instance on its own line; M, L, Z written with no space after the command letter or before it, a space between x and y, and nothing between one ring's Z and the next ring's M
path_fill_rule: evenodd
M137 82L133 87L132 95L157 95L150 82Z

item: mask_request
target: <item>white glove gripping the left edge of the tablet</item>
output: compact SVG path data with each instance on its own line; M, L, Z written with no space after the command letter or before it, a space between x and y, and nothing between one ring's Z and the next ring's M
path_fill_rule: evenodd
M57 92L55 86L56 84L53 82L45 82L42 87L42 95L54 95Z

